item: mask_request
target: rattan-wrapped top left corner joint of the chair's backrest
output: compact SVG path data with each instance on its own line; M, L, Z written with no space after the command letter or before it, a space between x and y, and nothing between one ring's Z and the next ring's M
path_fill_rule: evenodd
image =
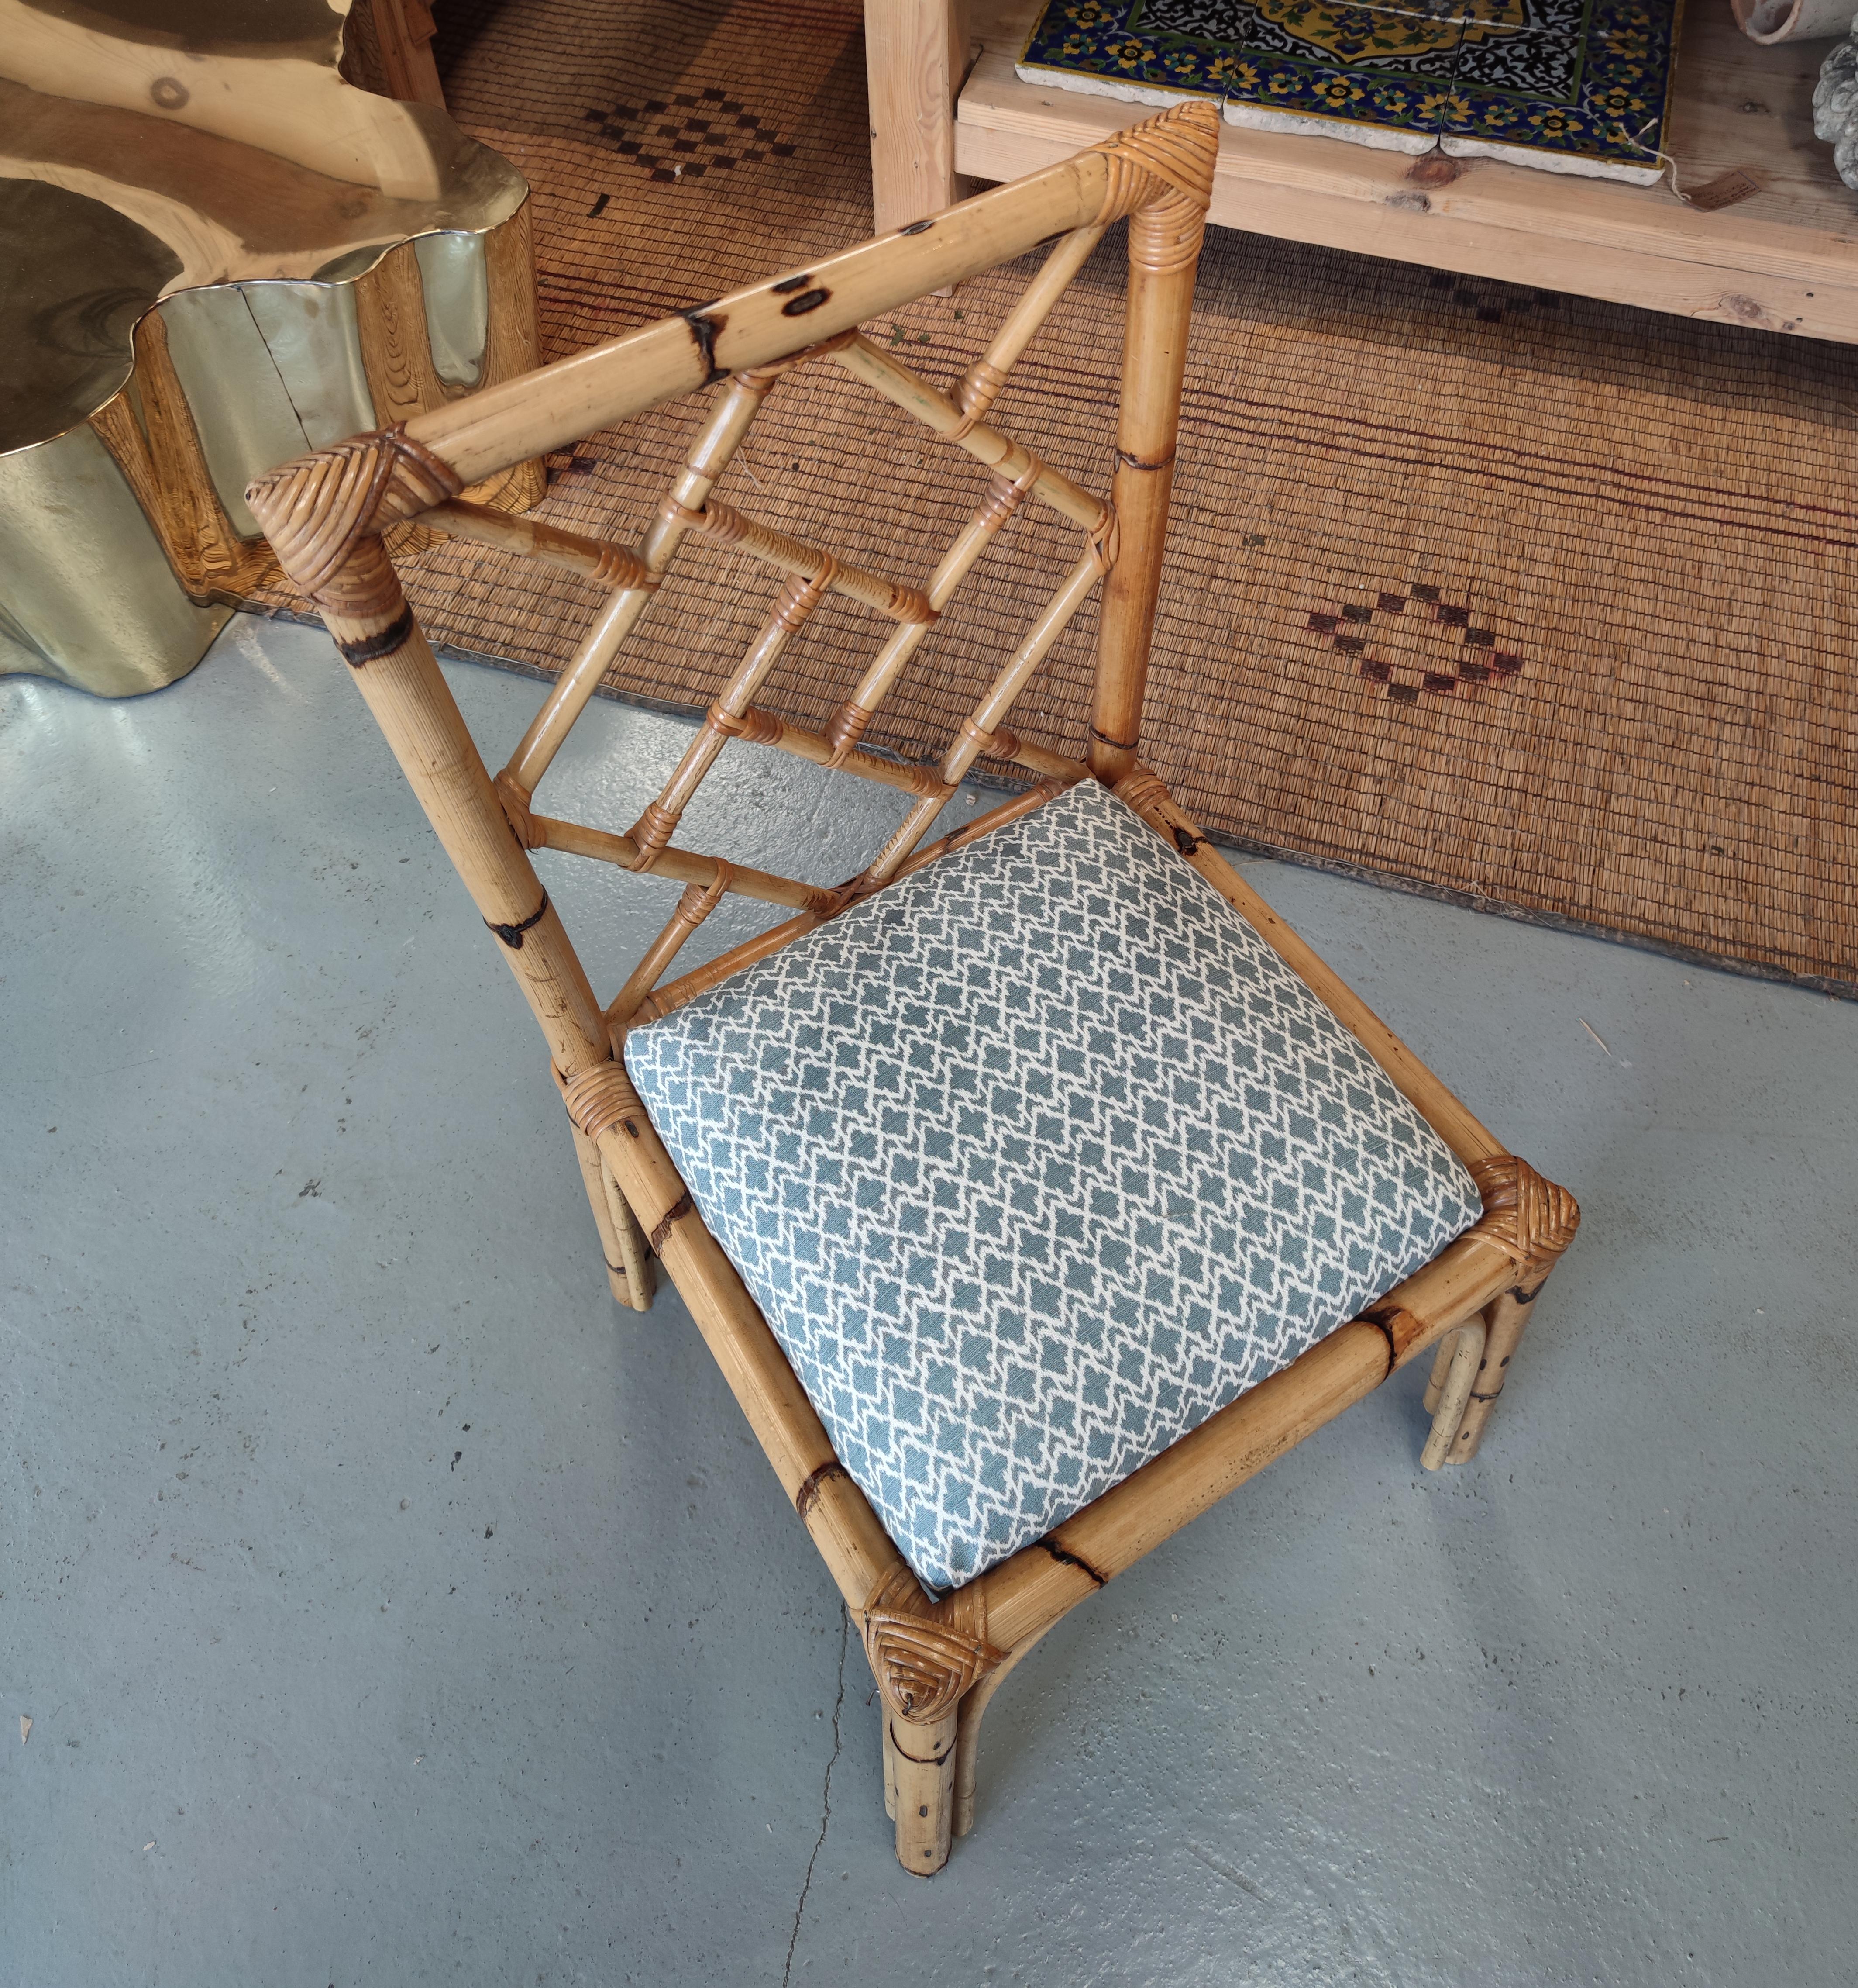
M403 606L380 533L463 487L397 421L266 471L248 485L244 501L278 565L318 608L368 620Z

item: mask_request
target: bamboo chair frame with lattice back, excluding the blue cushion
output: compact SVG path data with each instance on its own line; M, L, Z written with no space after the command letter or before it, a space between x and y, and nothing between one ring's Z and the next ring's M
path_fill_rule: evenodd
M1397 1036L1236 875L1139 755L1149 636L1168 517L1182 352L1218 121L1210 105L1149 119L1077 157L805 270L686 310L610 344L358 435L290 463L250 489L278 559L316 602L433 829L527 996L566 1103L612 1290L644 1308L652 1260L686 1298L785 1495L858 1624L884 1708L884 1795L904 1869L946 1861L974 1815L980 1724L1015 1662L1067 1610L1302 1441L1397 1368L1435 1354L1423 1461L1474 1455L1504 1370L1578 1223L1568 1193L1514 1159ZM1129 298L1115 475L1101 499L986 419L1011 364L1085 256L1129 219ZM1019 304L950 394L860 336L858 324L1055 241ZM757 410L795 366L841 366L992 469L988 495L926 586L880 579L755 523L711 497ZM721 388L670 499L640 545L600 543L459 501L459 491L676 396ZM884 694L938 610L1027 497L1083 533L1083 555L936 765L900 765L860 747ZM405 604L382 533L401 521L523 553L606 582L612 592L509 765L493 779ZM684 761L630 833L554 819L537 783L606 668L648 612L674 561L711 541L785 575L749 656L709 708ZM1039 660L1103 580L1095 706L1079 757L1045 751L1004 724ZM827 590L894 624L823 734L755 704L781 650ZM678 817L729 740L797 753L910 797L870 869L823 887L775 877L674 841ZM1025 769L1031 785L968 827L922 835L980 755ZM860 907L984 855L990 835L1021 833L1053 797L1099 791L1127 803L1224 901L1218 918L1290 968L1351 1052L1373 1058L1391 1105L1437 1135L1476 1183L1482 1215L1359 1316L1238 1394L1143 1467L1071 1511L978 1578L932 1594L835 1455L815 1409L737 1262L717 1242L622 1060L628 1030L676 1018L705 990L743 984L757 962ZM1075 795L1071 793L1075 789ZM1097 803L1093 803L1097 805ZM1103 803L1107 807L1109 803ZM1101 809L1099 809L1101 813ZM1053 817L1057 809L1053 809ZM1145 841L1145 847L1155 847ZM550 905L531 849L558 849L686 885L670 922L610 1006L596 1000ZM1161 857L1157 857L1161 861ZM1170 873L1172 875L1172 873ZM1186 873L1182 871L1186 879ZM1184 889L1200 887L1186 879ZM666 980L674 956L725 893L793 916L707 966ZM898 903L886 899L882 903ZM1230 907L1238 920L1232 920ZM876 912L878 907L870 907ZM862 914L862 912L860 912ZM1264 944L1258 944L1258 942ZM1270 950L1266 950L1270 948ZM1292 978L1294 976L1294 978ZM1308 990L1308 992L1306 992ZM696 1010L692 1010L696 1012ZM1323 1026L1331 1026L1327 1020ZM1335 1030L1337 1040L1341 1030ZM642 1042L650 1042L650 1030ZM1363 1060L1363 1068L1371 1068ZM1381 1079L1375 1077L1379 1083ZM1391 1087L1389 1087L1391 1083ZM1395 1095L1399 1093L1399 1095ZM1425 1127L1431 1127L1427 1133ZM1453 1165L1455 1165L1453 1163ZM1472 1205L1474 1207L1474 1205ZM1472 1219L1472 1217L1467 1217Z

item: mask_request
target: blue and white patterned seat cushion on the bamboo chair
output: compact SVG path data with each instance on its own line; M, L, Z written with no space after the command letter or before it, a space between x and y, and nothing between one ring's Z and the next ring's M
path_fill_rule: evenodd
M1373 1058L1095 781L634 1030L626 1066L930 1588L1482 1213Z

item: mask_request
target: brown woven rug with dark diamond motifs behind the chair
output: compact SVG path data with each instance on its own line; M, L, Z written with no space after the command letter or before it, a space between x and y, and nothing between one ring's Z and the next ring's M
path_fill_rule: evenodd
M856 6L451 0L439 18L455 115L537 189L544 356L868 233ZM1117 235L996 415L1097 487L1119 260ZM882 336L948 378L1011 288L984 278ZM920 580L982 473L819 374L769 400L725 495ZM1840 346L1216 231L1157 769L1242 847L1858 992L1854 406ZM699 414L554 459L541 515L634 537ZM922 755L966 716L1069 537L1021 513L1011 543L874 740ZM688 555L612 688L705 702L769 594L757 575L731 598L739 571ZM537 672L596 600L457 543L421 553L407 590L437 640ZM821 720L872 630L835 602L767 702ZM1093 634L1085 612L1019 704L1027 736L1075 749Z

